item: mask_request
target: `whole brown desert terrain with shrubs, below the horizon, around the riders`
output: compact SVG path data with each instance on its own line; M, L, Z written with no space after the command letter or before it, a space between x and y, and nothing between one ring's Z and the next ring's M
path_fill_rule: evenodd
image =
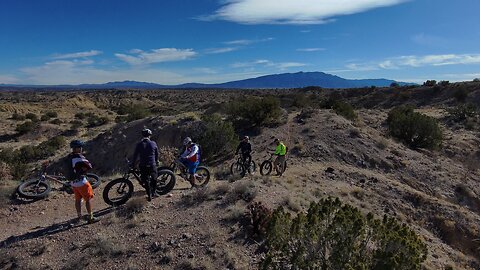
M278 229L282 220L301 213L310 217L312 203L336 207L332 202L338 198L352 208L334 208L337 215L363 220L365 228L373 228L373 238L381 227L370 223L368 213L378 221L393 218L391 224L398 225L386 231L406 225L389 240L400 239L394 264L379 269L479 269L478 106L478 81L353 89L5 87L0 91L0 268L294 269L288 268L294 265L289 256L310 238L296 238L295 245L293 238L282 240L291 248L282 253L281 245L275 246L285 238ZM102 199L103 187L123 175L125 157L133 154L145 127L153 131L163 164L191 136L202 147L212 179L190 189L177 177L170 193L151 202L135 184L125 205L111 207ZM233 176L230 165L243 135L250 136L257 169ZM288 146L288 166L282 176L263 176L259 166L274 150L274 138ZM73 139L87 142L85 155L102 180L94 198L101 220L91 225L72 224L73 197L58 185L40 200L16 193L42 162L51 161L49 173L59 170ZM283 210L275 211L279 207ZM349 218L331 222L339 228L357 224ZM335 233L340 234L333 241L360 239L347 229ZM325 269L345 266L334 261L343 260L334 256L335 243L329 245ZM360 259L350 260L360 265Z

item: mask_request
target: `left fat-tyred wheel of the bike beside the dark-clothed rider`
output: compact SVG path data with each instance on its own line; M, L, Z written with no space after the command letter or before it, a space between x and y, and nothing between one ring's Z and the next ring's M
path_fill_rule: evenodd
M126 203L133 195L133 183L125 178L110 181L103 189L103 200L111 206Z

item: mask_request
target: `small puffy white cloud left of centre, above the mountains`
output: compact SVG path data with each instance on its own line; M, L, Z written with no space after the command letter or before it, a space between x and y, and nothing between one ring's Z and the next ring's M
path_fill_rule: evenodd
M180 61L192 58L197 53L193 49L161 48L145 52L139 49L130 50L131 54L116 53L115 56L130 65L144 65L161 62Z

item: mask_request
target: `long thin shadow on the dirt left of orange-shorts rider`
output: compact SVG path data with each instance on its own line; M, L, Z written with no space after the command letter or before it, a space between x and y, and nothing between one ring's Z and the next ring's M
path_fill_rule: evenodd
M102 210L98 210L98 211L94 212L94 215L96 217L101 217L101 216L107 215L107 214L109 214L113 211L115 211L115 208L107 207L107 208L104 208ZM22 234L22 235L10 236L7 239L0 242L0 248L6 248L9 245L12 245L12 244L15 244L15 243L18 243L18 242L22 242L22 241L25 241L25 240L40 238L42 236L54 235L54 234L57 234L57 233L68 231L70 229L74 229L74 228L89 225L87 222L80 222L78 224L74 224L75 220L76 220L76 218L72 218L72 219L66 220L64 222L52 224L52 225L47 226L47 227L40 227L38 230L27 232L27 233Z

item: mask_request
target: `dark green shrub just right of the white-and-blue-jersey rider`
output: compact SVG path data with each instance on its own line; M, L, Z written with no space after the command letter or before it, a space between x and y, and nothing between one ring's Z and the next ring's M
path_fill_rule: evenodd
M220 115L203 116L193 139L200 145L202 159L211 161L221 155L232 153L237 144L237 135L233 124L224 121Z

